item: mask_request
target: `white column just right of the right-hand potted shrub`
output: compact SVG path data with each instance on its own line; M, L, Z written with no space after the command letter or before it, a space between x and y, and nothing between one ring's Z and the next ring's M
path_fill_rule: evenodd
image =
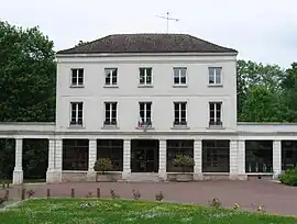
M202 180L202 141L195 139L194 141L194 180Z

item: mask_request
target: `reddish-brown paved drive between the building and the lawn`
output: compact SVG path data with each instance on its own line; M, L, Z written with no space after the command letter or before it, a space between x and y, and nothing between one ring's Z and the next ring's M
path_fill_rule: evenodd
M52 197L70 197L70 189L75 188L75 197L86 197L100 187L101 197L110 198L110 189L113 189L121 198L133 199L132 190L140 190L143 200L155 200L155 193L163 191L165 201L197 203L207 205L208 201L218 198L223 206L232 208L239 203L246 210L255 210L263 204L266 212L297 215L297 188L283 186L265 180L253 181L200 181L200 182L67 182L57 184L26 184L26 189L34 189L34 197L46 197L46 189L51 189ZM1 191L0 191L1 192ZM1 192L3 194L3 191ZM20 189L13 187L10 198L20 197Z

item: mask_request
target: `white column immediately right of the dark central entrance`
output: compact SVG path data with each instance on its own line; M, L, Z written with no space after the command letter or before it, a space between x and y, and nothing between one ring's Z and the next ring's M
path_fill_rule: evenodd
M167 142L166 139L158 141L158 179L165 181L167 179Z

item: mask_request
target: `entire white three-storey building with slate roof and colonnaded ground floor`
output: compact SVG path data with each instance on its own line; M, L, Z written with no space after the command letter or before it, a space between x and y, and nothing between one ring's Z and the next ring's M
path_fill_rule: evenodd
M193 180L277 178L297 163L297 124L237 119L237 55L187 34L118 34L61 51L55 123L1 123L15 138L48 139L47 182L95 181L109 158L116 181L174 181L179 155ZM267 109L268 110L268 109Z

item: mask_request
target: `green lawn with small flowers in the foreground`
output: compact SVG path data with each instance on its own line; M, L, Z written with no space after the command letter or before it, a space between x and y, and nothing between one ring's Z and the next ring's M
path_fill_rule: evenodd
M89 205L87 206L87 204ZM165 202L97 199L34 199L24 201L20 206L1 211L0 223L295 224L297 223L297 219Z

